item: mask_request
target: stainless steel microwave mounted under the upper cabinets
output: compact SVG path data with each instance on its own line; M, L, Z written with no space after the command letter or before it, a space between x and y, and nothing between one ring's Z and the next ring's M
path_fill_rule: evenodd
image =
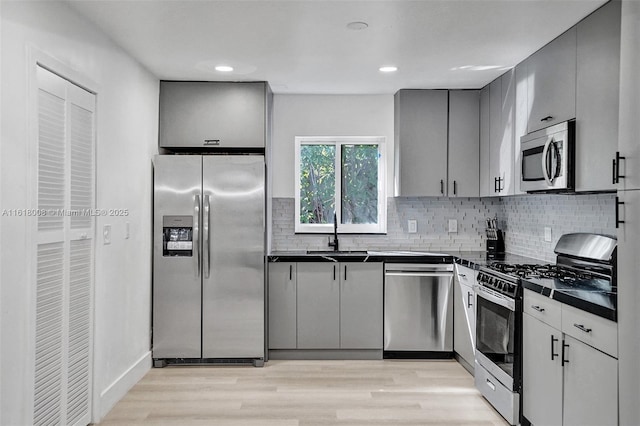
M575 121L564 121L520 138L520 190L571 191L574 188Z

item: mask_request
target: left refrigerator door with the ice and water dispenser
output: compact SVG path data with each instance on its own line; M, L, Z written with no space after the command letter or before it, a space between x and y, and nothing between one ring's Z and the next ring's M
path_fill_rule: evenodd
M201 176L200 156L154 157L153 358L201 357Z

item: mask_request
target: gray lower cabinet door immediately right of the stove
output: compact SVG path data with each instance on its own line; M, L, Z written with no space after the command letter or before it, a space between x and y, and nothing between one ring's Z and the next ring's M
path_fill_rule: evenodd
M534 425L561 425L562 333L529 314L522 317L522 413Z

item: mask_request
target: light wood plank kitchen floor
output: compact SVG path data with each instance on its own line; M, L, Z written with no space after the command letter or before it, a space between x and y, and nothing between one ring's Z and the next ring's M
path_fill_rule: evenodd
M270 361L152 369L102 425L507 423L455 361Z

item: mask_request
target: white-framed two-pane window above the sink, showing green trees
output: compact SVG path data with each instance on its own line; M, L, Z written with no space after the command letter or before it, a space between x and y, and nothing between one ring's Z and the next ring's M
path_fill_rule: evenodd
M296 137L296 232L386 232L384 141Z

